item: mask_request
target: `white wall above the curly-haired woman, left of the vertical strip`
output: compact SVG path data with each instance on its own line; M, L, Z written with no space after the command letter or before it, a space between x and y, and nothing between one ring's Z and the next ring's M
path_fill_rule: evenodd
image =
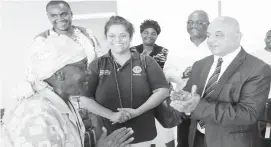
M130 20L136 29L133 45L142 43L139 26L145 19L158 21L161 34L157 44L170 50L180 49L182 40L187 40L186 22L194 10L205 10L210 20L218 15L217 0L118 0L118 15Z

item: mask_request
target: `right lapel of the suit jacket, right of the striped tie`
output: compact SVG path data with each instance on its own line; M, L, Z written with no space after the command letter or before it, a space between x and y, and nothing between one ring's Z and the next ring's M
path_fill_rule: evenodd
M221 75L215 91L211 94L211 100L217 100L219 93L221 92L224 84L230 79L232 74L236 71L236 69L242 64L242 61L246 58L246 52L242 48L241 51L237 54L237 56L233 59L230 65L227 67L225 72Z

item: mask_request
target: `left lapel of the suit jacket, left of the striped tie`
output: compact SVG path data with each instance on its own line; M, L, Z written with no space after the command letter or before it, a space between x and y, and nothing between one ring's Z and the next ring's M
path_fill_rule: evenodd
M202 95L205 83L207 81L208 74L210 72L211 66L214 62L214 56L210 56L207 58L207 61L204 63L203 69L200 74L200 80L199 80L199 94Z

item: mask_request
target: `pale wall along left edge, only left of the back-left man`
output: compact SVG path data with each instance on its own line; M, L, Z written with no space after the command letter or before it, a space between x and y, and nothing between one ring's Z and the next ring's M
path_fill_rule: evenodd
M31 40L50 27L46 2L3 2L1 74L4 106L12 105L12 88L23 78L25 54Z

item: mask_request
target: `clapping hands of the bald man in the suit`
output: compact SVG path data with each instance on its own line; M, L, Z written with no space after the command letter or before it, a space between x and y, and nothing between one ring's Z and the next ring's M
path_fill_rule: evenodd
M171 100L170 106L177 111L191 113L196 109L200 100L200 95L197 94L197 86L192 86L191 93L183 90L174 91Z

